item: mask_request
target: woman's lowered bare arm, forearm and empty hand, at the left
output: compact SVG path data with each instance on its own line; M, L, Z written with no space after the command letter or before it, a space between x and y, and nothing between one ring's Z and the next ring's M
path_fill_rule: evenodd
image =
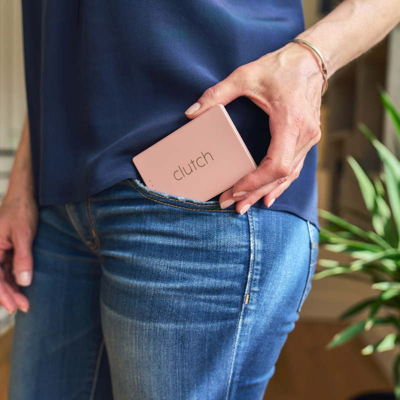
M12 313L26 312L28 299L18 284L32 280L32 242L36 234L38 207L34 196L28 119L22 129L7 193L0 205L0 304Z

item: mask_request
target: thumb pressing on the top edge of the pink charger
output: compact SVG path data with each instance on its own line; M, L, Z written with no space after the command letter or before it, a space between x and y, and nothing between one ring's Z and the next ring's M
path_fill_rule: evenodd
M235 69L227 78L205 90L197 102L187 108L186 116L190 119L196 118L216 104L226 105L241 96L240 86L237 84L239 69Z

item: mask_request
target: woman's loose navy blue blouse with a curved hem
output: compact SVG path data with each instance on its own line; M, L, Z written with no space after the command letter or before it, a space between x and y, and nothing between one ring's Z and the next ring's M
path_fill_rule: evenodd
M301 0L22 0L22 7L40 205L139 177L132 157L185 124L184 111L204 90L304 28ZM246 98L226 109L259 163L268 115ZM314 146L272 209L317 224L316 162Z

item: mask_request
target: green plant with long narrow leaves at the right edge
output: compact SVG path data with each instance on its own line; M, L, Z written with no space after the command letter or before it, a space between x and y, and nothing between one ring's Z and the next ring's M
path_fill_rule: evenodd
M380 98L400 138L400 114L383 90L380 91ZM330 222L320 230L320 243L327 250L345 252L352 258L344 264L320 259L319 265L324 269L316 273L314 279L354 272L370 278L372 288L379 290L376 297L355 304L341 315L341 319L345 319L367 311L367 317L337 333L328 347L340 345L375 325L394 327L396 333L387 334L379 342L369 344L362 350L363 354L371 354L400 345L400 161L364 124L360 123L358 127L375 147L383 164L380 176L371 180L358 162L352 156L347 156L370 213L373 230L361 229L328 211L319 210L319 215ZM393 365L394 394L397 399L400 399L399 369L400 353Z

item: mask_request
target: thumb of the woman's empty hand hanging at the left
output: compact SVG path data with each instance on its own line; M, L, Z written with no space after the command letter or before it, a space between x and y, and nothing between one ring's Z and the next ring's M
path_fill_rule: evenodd
M32 280L33 257L32 240L27 234L13 237L14 256L12 259L16 281L21 286L28 286Z

